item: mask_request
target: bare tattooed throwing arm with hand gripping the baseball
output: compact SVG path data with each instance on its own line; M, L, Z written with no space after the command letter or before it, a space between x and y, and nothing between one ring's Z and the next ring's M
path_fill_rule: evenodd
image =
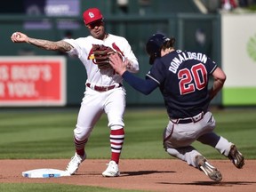
M44 50L68 52L73 47L65 41L52 42L44 39L31 38L23 33L15 32L11 36L13 43L28 43L33 44Z

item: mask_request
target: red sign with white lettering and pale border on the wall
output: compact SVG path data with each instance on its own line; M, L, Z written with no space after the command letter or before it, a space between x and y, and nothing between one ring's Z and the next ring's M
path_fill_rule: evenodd
M65 57L0 57L0 107L66 102Z

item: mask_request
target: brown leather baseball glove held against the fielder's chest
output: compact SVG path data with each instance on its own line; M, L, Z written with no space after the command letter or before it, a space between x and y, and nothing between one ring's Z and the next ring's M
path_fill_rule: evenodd
M112 68L109 64L109 56L113 53L115 51L111 47L103 44L92 44L92 62L98 65L100 69Z

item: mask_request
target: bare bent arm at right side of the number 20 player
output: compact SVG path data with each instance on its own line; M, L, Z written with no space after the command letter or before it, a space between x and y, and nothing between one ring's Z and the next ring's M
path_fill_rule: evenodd
M214 78L214 82L212 85L212 89L209 92L210 100L212 100L216 96L216 94L220 92L223 84L226 81L226 75L219 67L214 70L212 76Z

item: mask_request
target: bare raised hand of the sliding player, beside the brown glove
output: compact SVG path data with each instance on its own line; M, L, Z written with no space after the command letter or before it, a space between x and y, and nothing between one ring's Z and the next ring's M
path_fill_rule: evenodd
M118 53L114 53L109 56L109 63L120 76L122 76L126 71L126 66L129 66L129 60L121 60Z

